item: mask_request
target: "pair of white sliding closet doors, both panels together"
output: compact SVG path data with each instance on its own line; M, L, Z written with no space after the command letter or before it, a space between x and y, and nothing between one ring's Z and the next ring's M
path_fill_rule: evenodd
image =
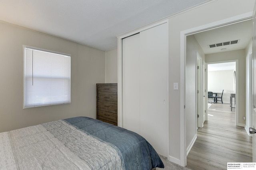
M123 39L123 127L168 156L167 23Z

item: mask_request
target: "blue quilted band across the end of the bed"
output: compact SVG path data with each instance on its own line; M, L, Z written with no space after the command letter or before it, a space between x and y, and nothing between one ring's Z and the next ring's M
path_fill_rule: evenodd
M137 133L89 117L73 117L64 121L113 147L125 170L164 168L154 148Z

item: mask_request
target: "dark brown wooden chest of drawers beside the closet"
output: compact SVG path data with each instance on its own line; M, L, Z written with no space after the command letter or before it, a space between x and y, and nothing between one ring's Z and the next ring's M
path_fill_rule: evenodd
M97 119L117 125L117 83L96 84Z

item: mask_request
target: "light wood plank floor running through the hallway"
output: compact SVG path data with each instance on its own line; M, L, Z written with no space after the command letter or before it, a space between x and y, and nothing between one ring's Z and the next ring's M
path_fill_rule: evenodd
M187 168L226 170L227 162L252 162L252 137L235 125L235 109L229 104L212 104L187 156Z

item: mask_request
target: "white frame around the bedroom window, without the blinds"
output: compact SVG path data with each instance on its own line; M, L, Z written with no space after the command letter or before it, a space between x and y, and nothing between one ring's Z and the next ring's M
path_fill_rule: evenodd
M48 103L48 104L34 104L33 106L26 106L26 48L28 49L33 49L33 50L38 50L38 51L44 51L44 52L48 52L48 53L54 53L57 55L64 55L70 58L70 71L69 71L69 101L65 101L65 102L58 102L58 103ZM62 105L62 104L70 104L71 103L71 55L68 54L64 54L64 53L59 53L59 52L55 52L55 51L49 51L49 50L45 50L45 49L40 49L40 48L36 48L36 47L31 47L31 46L27 46L27 45L23 45L23 109L27 109L27 108L34 108L34 107L44 107L44 106L54 106L54 105Z

